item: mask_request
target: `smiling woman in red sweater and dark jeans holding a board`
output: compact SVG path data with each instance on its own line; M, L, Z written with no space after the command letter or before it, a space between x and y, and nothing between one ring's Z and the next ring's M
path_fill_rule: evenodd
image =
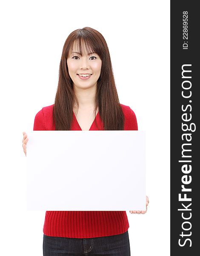
M109 49L97 30L77 29L66 39L54 104L36 114L34 130L137 130L134 111L119 102ZM26 154L25 132L22 142ZM146 210L148 203L146 197ZM43 255L129 256L128 228L126 211L46 211Z

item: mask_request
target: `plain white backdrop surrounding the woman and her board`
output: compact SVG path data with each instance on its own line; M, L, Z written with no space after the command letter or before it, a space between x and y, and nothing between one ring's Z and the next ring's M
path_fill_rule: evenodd
M43 255L45 212L26 210L22 132L54 103L63 44L84 26L106 39L120 103L146 131L149 207L144 215L127 211L131 255L170 254L169 11L166 0L0 3L1 255Z

